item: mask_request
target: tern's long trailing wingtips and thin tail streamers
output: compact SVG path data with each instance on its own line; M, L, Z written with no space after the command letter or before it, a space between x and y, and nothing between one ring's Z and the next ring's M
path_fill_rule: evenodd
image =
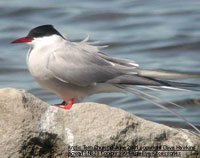
M191 126L193 129L195 129L195 131L197 131L200 134L200 130L191 122L189 122L187 119L185 119L183 116L165 107L164 105L153 101L153 99L156 99L157 101L164 101L171 105L175 105L177 107L181 107L180 105L175 104L170 101L166 101L157 96L151 95L149 93L146 93L146 92L143 92L141 90L131 87L131 85L136 85L136 86L143 86L145 88L150 86L149 88L150 90L158 90L158 88L165 88L165 89L174 89L174 90L200 91L199 84L183 83L183 82L175 82L175 81L166 80L166 79L194 78L194 77L200 78L200 74L187 74L187 73L177 73L177 72L169 72L169 71L154 71L154 70L141 70L141 69L137 69L137 71L138 71L137 75L127 74L127 75L118 76L114 79L108 80L108 83L114 84L118 86L119 88L123 88L137 95L141 99L146 100L147 102L150 102L164 110L167 110L168 112L172 113L176 117L185 121L189 126Z

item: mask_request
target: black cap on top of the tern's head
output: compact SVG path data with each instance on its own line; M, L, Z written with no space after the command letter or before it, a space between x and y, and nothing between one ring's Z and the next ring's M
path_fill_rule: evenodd
M56 29L54 29L52 25L42 25L32 29L27 37L33 39L34 37L37 38L37 37L51 36L55 34L63 38L63 36Z

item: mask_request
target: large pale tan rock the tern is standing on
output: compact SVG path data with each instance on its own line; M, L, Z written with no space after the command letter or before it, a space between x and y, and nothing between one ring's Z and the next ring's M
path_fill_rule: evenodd
M97 152L94 147L101 150ZM115 150L110 151L113 148ZM175 151L183 148L186 151ZM156 157L150 155L156 154L156 151L157 154L171 154L170 157L197 157L200 137L188 130L146 121L107 105L79 103L70 110L63 110L42 102L24 90L0 90L2 158L62 158L73 155L82 157L84 154L93 154L94 157L97 157L94 154L104 157L111 157L111 154Z

